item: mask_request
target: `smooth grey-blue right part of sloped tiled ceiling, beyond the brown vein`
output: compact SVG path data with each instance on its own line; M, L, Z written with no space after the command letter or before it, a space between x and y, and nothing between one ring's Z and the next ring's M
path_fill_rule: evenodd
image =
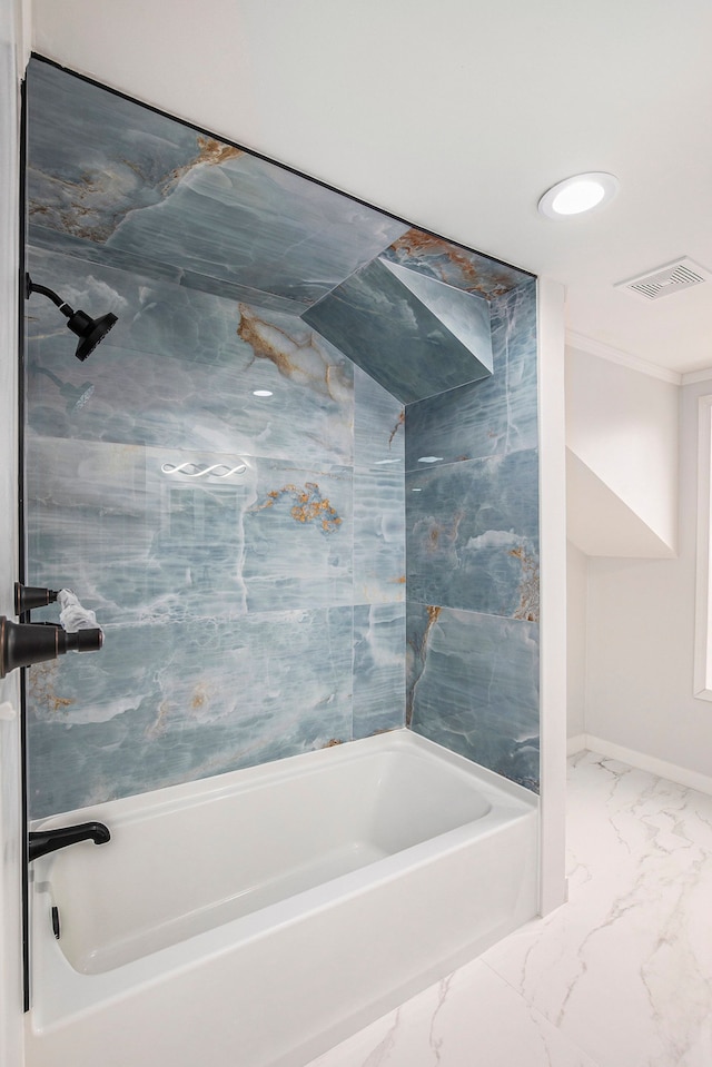
M356 200L239 154L191 169L166 199L127 215L107 244L310 305L404 229Z

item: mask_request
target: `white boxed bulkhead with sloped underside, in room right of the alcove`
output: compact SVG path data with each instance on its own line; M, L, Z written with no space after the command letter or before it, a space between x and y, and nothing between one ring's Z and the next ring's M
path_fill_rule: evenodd
M566 349L568 527L589 555L674 554L678 391L672 382Z

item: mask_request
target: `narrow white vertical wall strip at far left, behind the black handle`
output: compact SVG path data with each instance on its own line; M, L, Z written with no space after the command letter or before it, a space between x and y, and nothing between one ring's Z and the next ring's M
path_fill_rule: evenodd
M20 0L0 3L0 614L13 619L17 556ZM22 1063L18 674L0 681L0 1064Z

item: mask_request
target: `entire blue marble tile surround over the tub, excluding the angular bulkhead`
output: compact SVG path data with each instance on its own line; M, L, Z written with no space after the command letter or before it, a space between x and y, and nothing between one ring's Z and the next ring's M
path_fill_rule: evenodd
M31 816L406 717L534 788L530 276L38 59L28 127L28 269L119 316L82 364L27 305L26 579L106 631L28 672ZM307 324L377 257L488 303L492 377L406 418Z

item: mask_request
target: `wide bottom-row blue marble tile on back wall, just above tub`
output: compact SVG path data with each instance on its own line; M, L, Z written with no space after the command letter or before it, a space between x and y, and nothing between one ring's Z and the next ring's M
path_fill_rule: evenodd
M115 623L32 668L32 818L349 740L352 615Z

